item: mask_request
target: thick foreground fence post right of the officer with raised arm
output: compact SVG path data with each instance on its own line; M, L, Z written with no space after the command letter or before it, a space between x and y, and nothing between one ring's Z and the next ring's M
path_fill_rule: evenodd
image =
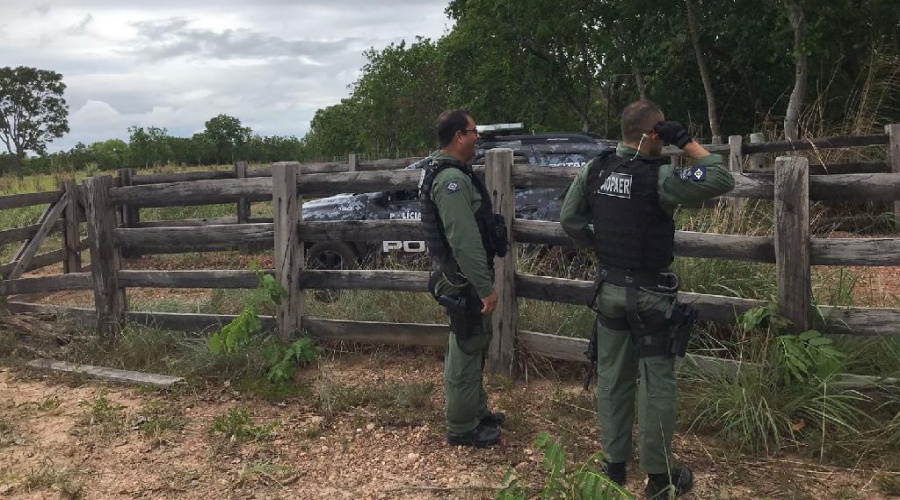
M812 290L807 158L775 160L775 268L781 313L793 323L793 331L808 330Z

